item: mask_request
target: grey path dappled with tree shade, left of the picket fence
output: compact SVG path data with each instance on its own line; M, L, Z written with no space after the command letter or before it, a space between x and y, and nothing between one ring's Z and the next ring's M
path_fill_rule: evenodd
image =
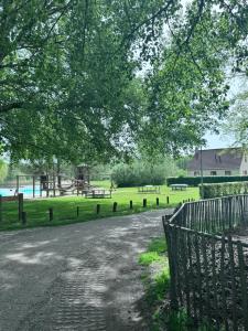
M162 214L1 233L0 330L149 330L137 261Z

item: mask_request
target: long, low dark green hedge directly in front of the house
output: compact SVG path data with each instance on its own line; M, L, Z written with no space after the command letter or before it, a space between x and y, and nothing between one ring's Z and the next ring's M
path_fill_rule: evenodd
M248 175L207 175L203 178L203 183L229 183L248 181ZM201 177L170 177L166 180L168 185L187 184L190 186L198 186Z

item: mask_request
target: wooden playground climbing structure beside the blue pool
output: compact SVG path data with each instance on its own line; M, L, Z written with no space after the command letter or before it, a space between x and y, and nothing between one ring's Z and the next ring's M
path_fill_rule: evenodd
M30 193L33 197L56 196L65 194L87 194L93 186L89 183L89 168L87 166L79 166L76 170L75 178L66 178L62 174L19 174L17 175L17 189L14 195L20 193L22 178L30 178L32 181L32 189ZM39 188L39 189L37 189Z

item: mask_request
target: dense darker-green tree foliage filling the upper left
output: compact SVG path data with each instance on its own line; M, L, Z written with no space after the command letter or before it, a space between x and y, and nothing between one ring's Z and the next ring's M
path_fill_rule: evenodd
M12 158L105 160L132 141L132 46L172 2L3 1L1 136Z

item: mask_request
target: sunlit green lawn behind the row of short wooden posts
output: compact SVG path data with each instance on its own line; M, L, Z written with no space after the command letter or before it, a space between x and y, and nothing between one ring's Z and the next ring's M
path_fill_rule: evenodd
M98 182L97 185L109 188L107 181ZM169 196L170 204L166 204ZM128 215L139 213L145 210L158 209L155 199L159 197L160 206L175 206L186 199L198 199L198 189L188 188L186 191L171 191L168 186L161 186L161 194L138 193L137 188L117 189L112 192L111 199L86 199L83 196L63 196L40 200L25 200L24 211L26 212L28 223L25 227L62 225L75 222L85 222L112 215ZM147 209L142 207L142 201L147 199ZM133 209L129 209L129 202L132 200ZM112 212L112 203L117 202L117 212ZM100 204L100 213L96 214L96 205ZM48 209L53 207L54 220L48 221ZM77 216L77 207L79 215ZM0 229L23 228L24 226L18 221L18 203L3 202L2 221Z

